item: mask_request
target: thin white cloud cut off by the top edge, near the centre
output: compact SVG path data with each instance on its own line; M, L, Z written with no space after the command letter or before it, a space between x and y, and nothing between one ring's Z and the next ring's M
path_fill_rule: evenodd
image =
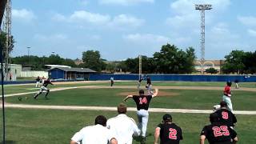
M100 4L130 6L138 3L154 3L154 0L99 0Z

